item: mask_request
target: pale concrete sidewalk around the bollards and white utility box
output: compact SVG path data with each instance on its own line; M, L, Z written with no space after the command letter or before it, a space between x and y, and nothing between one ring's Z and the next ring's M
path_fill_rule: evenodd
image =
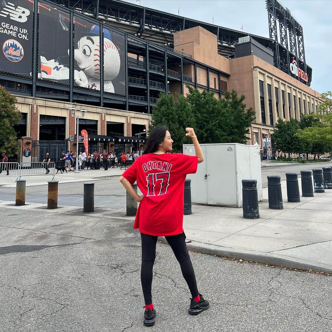
M301 180L299 179L301 193ZM260 219L244 219L242 208L193 205L184 216L188 247L200 252L332 273L332 190L269 209L268 189L259 204Z

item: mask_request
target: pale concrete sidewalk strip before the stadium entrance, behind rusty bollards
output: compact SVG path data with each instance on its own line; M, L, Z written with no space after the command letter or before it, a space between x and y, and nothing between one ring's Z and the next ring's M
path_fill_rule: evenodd
M14 171L13 171L14 172ZM91 181L98 178L107 178L112 176L120 176L124 172L124 168L109 168L107 171L104 171L103 168L99 170L83 170L79 173L75 172L64 172L54 174L54 180L59 181L59 183L68 183L68 182L79 182L79 181ZM56 173L56 170L55 170ZM47 184L47 181L51 181L53 178L52 174L48 175L35 175L35 176L22 176L21 180L26 180L26 186L41 186ZM0 176L0 186L7 188L15 188L16 176Z

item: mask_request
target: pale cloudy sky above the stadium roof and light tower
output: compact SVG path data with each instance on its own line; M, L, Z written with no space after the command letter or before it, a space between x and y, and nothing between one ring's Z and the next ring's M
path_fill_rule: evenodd
M126 0L139 4L136 0ZM312 68L311 87L332 90L332 0L281 0L303 27L306 63ZM141 0L141 6L269 37L264 0Z

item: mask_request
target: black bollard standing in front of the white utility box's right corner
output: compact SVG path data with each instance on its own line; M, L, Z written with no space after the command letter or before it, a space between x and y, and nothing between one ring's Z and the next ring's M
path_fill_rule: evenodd
M242 180L242 207L243 218L259 218L257 180Z

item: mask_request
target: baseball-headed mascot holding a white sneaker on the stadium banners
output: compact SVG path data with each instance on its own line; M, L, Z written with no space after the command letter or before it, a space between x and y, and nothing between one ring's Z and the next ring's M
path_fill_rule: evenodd
M74 58L80 70L74 70L75 83L84 88L100 90L100 28L93 25L90 32L82 33L74 50ZM114 93L114 80L120 71L120 54L112 42L112 37L104 29L104 91ZM69 55L69 49L68 49ZM69 68L59 64L58 60L47 60L41 56L41 74L39 78L52 80L69 79Z

